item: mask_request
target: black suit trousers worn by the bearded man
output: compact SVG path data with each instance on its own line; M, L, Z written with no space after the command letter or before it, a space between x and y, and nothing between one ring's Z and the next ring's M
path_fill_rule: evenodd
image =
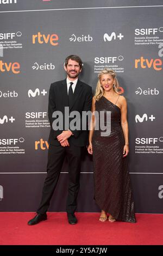
M41 203L37 209L38 214L44 214L49 207L65 157L67 157L69 169L66 211L68 213L76 211L77 196L79 192L81 153L82 147L76 147L73 144L71 144L70 147L49 145L47 176L42 189Z

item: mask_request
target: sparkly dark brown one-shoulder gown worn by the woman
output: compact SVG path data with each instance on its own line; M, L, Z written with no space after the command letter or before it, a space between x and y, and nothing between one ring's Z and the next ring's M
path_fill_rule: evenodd
M95 130L92 138L96 203L116 220L135 223L127 157L123 158L121 110L104 96L95 106L98 112L111 112L110 135L102 137L101 130Z

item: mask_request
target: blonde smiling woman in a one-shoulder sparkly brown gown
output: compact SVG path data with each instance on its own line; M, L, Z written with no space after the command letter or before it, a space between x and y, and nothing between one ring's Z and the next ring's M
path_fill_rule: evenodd
M127 161L127 101L124 96L118 94L114 71L104 69L98 78L92 100L92 127L87 150L89 154L93 154L95 200L102 210L99 221L135 223ZM100 118L102 112L104 118ZM108 129L107 136L101 121Z

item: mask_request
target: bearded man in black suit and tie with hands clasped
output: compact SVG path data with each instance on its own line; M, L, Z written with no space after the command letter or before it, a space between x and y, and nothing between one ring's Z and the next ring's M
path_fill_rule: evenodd
M83 111L91 111L92 101L91 87L78 80L82 65L82 60L78 56L68 56L64 65L67 78L64 81L51 84L48 103L51 132L49 135L47 177L44 182L42 199L37 209L37 215L28 222L28 225L47 220L46 212L57 185L65 156L68 160L70 176L66 203L67 217L70 224L77 223L74 212L77 208L79 192L80 158L82 148L86 146L88 139L87 130L82 130L82 113ZM79 124L80 129L74 130L75 124L72 117L69 118L67 114L65 115L65 107L69 107L70 116L72 111L77 111L80 114L80 118L76 119L76 124ZM59 124L59 130L56 128L58 111L63 115L63 123ZM65 118L68 118L68 129Z

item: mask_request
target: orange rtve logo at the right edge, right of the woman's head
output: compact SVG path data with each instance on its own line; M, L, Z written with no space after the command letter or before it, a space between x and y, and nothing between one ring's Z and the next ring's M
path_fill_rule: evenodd
M135 59L135 69L155 69L160 71L162 69L162 60L161 59L144 59L143 56L140 59Z

